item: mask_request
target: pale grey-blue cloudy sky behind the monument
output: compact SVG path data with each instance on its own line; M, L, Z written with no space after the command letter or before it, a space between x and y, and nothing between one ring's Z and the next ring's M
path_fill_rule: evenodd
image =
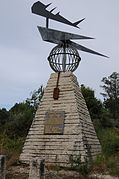
M44 87L53 72L47 57L55 46L42 41L37 26L45 26L45 18L31 13L35 0L0 1L0 108L10 109L30 97L31 91ZM91 36L93 40L76 42L110 58L79 51L81 62L74 72L79 84L95 90L102 99L101 79L119 72L119 1L118 0L41 0L57 7L60 14L80 23L80 29L50 21L50 28Z

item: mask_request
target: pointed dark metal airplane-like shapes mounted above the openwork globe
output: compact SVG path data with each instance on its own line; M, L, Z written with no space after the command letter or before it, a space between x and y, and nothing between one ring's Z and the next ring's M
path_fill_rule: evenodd
M54 30L54 29L49 29L48 28L49 19L52 19L52 20L55 20L55 21L58 21L58 22L61 22L61 23L76 27L76 28L79 28L77 25L79 23L81 23L85 19L84 18L84 19L81 19L81 20L79 20L77 22L72 23L69 20L65 19L63 16L61 16L59 14L59 12L56 15L52 14L52 12L53 12L53 10L55 8L53 8L51 11L48 11L46 8L48 6L50 6L50 5L51 5L51 3L48 4L48 5L44 5L43 3L38 1L38 2L34 3L33 6L32 6L32 13L40 15L40 16L43 16L43 17L46 17L46 28L38 26L38 30L39 30L39 32L40 32L40 34L42 36L42 39L44 41L55 43L55 44L59 44L60 42L65 41L65 42L67 42L68 44L72 45L73 47L75 47L78 50L109 58L106 55L103 55L101 53L98 53L98 52L96 52L94 50L91 50L89 48L86 48L86 47L84 47L82 45L79 45L79 44L71 41L71 39L74 39L74 40L75 39L79 39L79 40L81 40L81 39L93 39L91 37L86 37L86 36L82 36L82 35L67 33L67 32L58 31L58 30Z

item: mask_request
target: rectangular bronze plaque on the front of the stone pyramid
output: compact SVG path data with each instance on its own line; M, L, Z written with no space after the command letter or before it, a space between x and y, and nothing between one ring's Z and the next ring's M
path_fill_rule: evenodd
M64 119L65 119L64 111L46 112L44 134L63 134Z

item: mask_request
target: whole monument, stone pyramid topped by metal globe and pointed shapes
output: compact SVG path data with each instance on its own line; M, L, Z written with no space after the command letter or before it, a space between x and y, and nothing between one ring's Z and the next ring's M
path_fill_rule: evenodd
M46 18L46 27L38 26L42 39L57 44L48 57L55 73L48 80L20 160L29 163L32 159L40 159L46 164L69 166L71 157L80 156L85 162L101 152L84 97L73 74L81 60L78 50L107 56L72 41L91 37L50 29L49 19L76 28L84 19L72 23L60 13L54 15L54 9L48 11L49 5L38 1L33 4L32 12Z

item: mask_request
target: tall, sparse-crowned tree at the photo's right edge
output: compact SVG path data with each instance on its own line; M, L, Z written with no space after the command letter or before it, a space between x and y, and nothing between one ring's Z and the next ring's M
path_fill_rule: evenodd
M101 87L105 91L101 93L104 97L104 105L114 119L119 118L119 73L113 72L110 76L102 79L104 85Z

